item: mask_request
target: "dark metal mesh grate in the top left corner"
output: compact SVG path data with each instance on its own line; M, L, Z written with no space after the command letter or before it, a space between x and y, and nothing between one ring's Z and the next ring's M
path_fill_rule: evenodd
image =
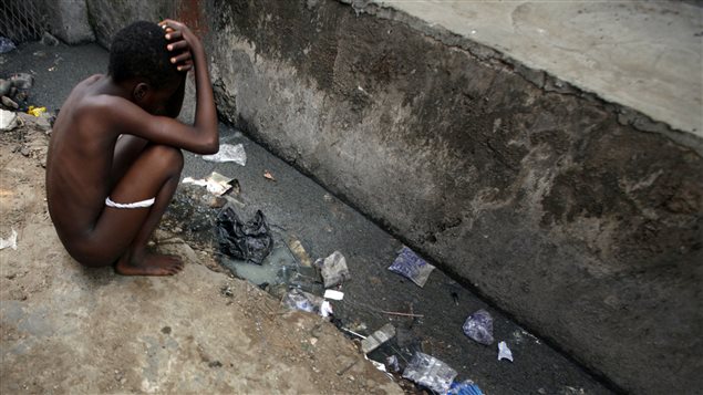
M14 43L39 40L46 30L43 0L0 1L0 37Z

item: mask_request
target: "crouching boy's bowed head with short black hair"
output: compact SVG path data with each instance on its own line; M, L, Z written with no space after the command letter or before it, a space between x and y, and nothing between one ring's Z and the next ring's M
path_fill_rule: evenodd
M172 90L184 77L176 65L170 63L173 54L166 49L167 40L164 35L164 30L158 24L138 21L120 30L112 40L107 73L117 84L136 82L133 95L137 102L143 98L141 96L154 93L143 92L144 89Z

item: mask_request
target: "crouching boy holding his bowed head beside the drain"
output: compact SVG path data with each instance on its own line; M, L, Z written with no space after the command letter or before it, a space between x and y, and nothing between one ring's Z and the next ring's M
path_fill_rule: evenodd
M54 124L46 162L49 212L69 253L86 266L115 263L123 274L182 269L178 258L152 254L146 243L178 184L180 148L200 154L218 148L200 42L179 22L155 27L138 22L121 31L110 73L73 89ZM153 48L138 46L149 44L163 45L163 53L153 59ZM174 119L189 69L197 90L193 126Z

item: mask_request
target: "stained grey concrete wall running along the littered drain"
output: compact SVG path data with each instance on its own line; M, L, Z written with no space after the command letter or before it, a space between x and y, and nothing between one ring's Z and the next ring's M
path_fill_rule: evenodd
M159 18L87 3L103 43ZM177 8L223 119L616 385L703 387L699 137L393 10Z

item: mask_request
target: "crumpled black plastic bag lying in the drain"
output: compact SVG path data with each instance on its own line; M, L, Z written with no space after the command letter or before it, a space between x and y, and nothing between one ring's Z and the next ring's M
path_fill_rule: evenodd
M245 224L231 207L223 209L217 216L217 238L223 253L256 264L261 264L273 248L271 231L260 210Z

